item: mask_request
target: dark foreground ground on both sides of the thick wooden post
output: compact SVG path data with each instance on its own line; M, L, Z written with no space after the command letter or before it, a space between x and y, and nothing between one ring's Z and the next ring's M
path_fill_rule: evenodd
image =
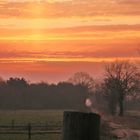
M0 134L0 140L28 140L28 131L18 134L16 126L28 126L34 132L31 140L62 140L62 121L64 110L1 110L0 131L17 131L17 134ZM35 128L35 126L40 126ZM47 126L53 126L49 128ZM47 130L60 130L58 133L42 133ZM102 119L101 140L140 140L140 111L127 111L124 117L106 117Z

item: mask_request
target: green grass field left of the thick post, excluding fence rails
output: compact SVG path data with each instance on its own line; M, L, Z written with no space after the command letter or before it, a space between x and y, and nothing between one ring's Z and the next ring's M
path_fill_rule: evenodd
M0 111L0 126L28 125L62 126L63 110L14 110ZM31 140L60 140L62 134L32 135ZM27 134L0 134L0 140L28 140Z

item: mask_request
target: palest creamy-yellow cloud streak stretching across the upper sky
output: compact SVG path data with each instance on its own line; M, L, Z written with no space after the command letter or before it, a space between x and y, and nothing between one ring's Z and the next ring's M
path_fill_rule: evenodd
M119 17L72 17L72 18L56 18L56 19L25 19L25 18L2 18L0 19L0 29L53 29L53 28L70 28L70 27L84 27L84 26L105 26L109 29L109 26L129 26L139 25L139 16L119 16ZM132 26L131 26L132 27Z

